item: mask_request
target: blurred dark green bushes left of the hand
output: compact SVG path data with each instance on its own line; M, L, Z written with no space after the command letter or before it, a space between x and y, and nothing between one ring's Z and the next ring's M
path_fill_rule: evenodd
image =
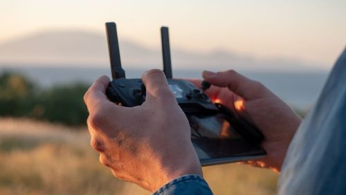
M36 118L73 126L86 124L83 95L88 84L64 84L39 89L19 73L0 74L0 116Z

